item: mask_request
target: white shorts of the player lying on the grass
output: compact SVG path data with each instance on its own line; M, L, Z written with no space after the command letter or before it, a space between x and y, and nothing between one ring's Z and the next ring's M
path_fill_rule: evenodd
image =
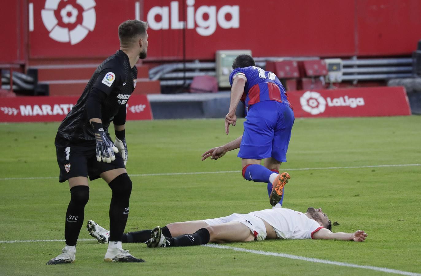
M256 241L263 241L266 239L266 226L264 225L264 222L261 220L261 218L258 218L254 215L232 214L222 218L211 218L203 221L208 225L218 225L231 221L238 221L250 229Z

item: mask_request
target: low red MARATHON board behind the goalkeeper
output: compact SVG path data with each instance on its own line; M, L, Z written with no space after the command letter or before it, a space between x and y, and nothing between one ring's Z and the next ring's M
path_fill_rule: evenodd
M79 97L2 98L0 122L59 122L69 113ZM146 95L132 95L126 105L127 120L151 120L152 111Z

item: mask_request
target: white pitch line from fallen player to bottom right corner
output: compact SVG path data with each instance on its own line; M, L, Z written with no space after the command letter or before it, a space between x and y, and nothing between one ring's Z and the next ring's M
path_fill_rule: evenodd
M302 261L307 261L307 262L312 262L312 263L323 263L327 265L339 265L339 266L346 266L346 267L352 267L352 268L370 269L370 270L375 270L375 271L395 273L395 274L401 274L401 275L421 276L420 273L396 270L396 269L391 269L391 268L382 268L382 267L371 266L371 265L356 265L353 263L343 263L343 262L322 260L322 259L316 259L316 258L284 254L284 253L266 252L266 251L261 251L261 250L250 250L250 249L245 249L245 248L240 248L240 247L230 247L230 246L219 245L219 244L206 244L204 246L213 247L213 248L221 248L221 249L231 249L234 251L248 252L248 253L266 255L266 256L276 256L276 257L288 258L288 259L293 259L293 260L302 260Z

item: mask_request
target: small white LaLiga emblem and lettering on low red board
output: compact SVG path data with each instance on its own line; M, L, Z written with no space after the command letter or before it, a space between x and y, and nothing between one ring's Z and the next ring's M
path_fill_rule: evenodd
M328 106L349 106L351 108L356 108L357 106L363 106L364 98L349 98L348 96L343 96L339 98L325 98L320 95L320 93L314 91L307 91L300 97L301 108L312 114L317 115L323 113L326 109L326 104Z

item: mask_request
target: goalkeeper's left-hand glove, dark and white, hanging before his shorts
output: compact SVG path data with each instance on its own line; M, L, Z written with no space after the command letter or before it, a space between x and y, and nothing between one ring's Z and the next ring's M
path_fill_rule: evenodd
M92 122L92 127L96 141L96 161L111 163L115 160L115 153L118 152L117 147L108 138L102 124Z

